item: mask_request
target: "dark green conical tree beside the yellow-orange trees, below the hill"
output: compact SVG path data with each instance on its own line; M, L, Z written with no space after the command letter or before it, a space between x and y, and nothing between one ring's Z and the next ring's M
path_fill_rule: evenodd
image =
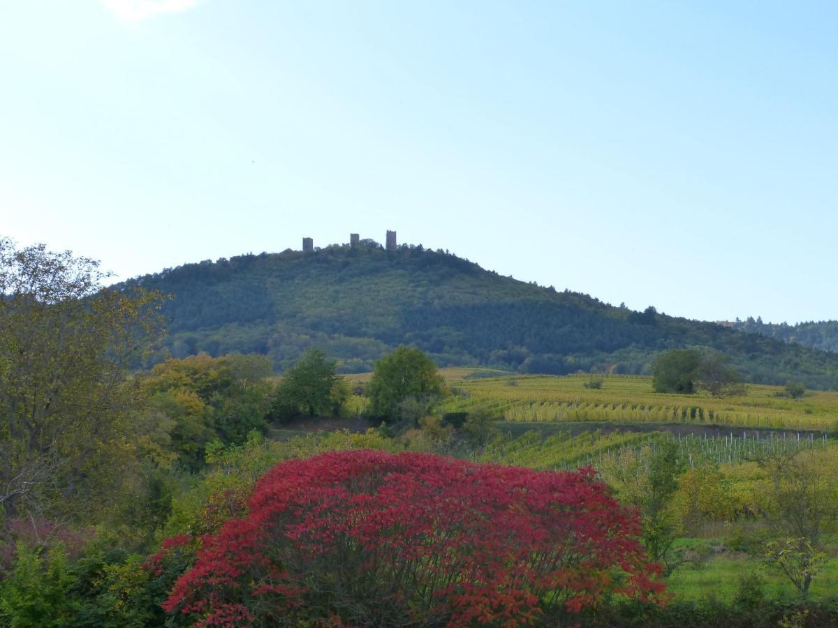
M343 378L335 374L334 360L320 349L308 349L283 375L272 414L279 420L299 414L338 414L347 395Z

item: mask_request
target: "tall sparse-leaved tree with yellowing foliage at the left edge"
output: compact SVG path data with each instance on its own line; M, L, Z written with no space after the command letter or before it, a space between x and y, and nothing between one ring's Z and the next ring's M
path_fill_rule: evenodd
M131 456L127 368L160 331L157 293L101 290L98 262L0 239L0 504L102 497Z

